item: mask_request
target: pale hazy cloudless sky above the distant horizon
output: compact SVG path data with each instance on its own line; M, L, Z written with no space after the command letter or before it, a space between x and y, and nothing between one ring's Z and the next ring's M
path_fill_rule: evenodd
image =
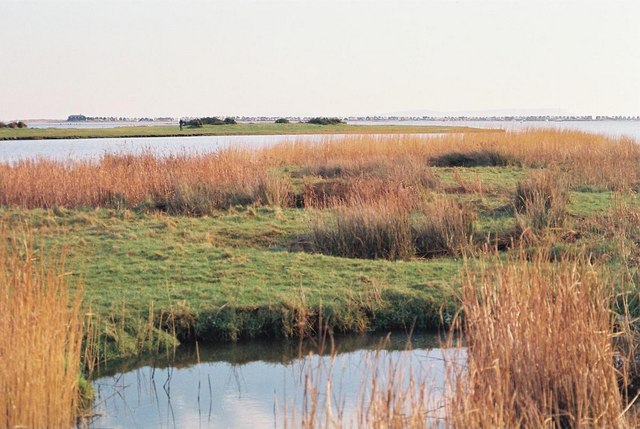
M639 19L638 0L0 0L0 120L640 115Z

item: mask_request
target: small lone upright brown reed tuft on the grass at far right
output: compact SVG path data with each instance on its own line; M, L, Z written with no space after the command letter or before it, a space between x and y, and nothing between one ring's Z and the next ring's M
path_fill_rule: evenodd
M513 205L520 228L536 233L564 225L570 188L566 175L555 170L535 170L518 184Z

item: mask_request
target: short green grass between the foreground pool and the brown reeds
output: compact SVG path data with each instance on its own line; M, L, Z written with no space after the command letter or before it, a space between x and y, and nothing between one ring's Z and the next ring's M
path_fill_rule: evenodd
M65 248L67 272L85 301L135 337L149 307L179 338L204 340L434 328L455 305L454 259L392 262L291 252L306 228L302 210L247 209L217 217L115 210L3 210L10 226L29 223L47 249ZM167 321L169 319L169 321ZM113 335L116 337L116 335ZM136 350L122 339L122 354ZM112 353L116 353L112 351Z

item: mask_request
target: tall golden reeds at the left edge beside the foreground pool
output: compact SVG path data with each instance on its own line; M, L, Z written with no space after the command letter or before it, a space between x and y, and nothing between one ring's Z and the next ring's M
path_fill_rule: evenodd
M0 427L70 428L78 412L82 294L63 261L0 232Z

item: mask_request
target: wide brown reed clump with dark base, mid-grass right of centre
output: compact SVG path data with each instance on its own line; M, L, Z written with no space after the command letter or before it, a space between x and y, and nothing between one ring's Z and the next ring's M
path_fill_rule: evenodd
M408 259L459 255L469 245L475 215L460 204L445 198L421 202L410 191L382 195L351 198L315 220L313 248L347 258Z

